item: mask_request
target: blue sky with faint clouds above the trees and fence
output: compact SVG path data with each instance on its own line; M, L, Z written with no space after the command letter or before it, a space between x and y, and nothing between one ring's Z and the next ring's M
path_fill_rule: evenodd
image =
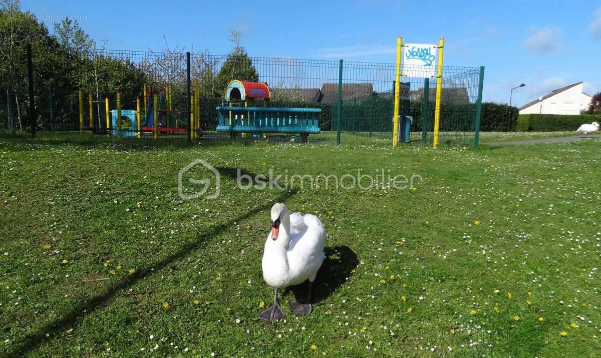
M452 5L447 5L452 4ZM436 43L445 65L486 67L484 100L523 105L584 81L601 91L601 2L572 1L47 1L23 10L79 16L110 49L208 49L227 53L230 29L251 56L394 62L396 37Z

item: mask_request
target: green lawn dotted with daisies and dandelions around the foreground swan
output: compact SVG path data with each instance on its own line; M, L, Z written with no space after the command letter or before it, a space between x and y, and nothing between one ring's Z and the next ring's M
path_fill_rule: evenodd
M0 356L598 356L600 145L0 137ZM220 169L218 199L178 196L195 159ZM241 190L236 168L424 181ZM278 201L320 216L328 259L313 314L291 315L304 290L284 290L287 320L270 325Z

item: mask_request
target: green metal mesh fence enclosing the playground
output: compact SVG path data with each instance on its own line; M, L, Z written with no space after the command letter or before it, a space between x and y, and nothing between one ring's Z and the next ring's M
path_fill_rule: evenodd
M75 135L84 132L132 140L153 138L153 132L145 131L143 124L154 111L148 99L157 94L160 126L174 129L159 132L158 139L231 141L228 133L216 132L216 107L225 104L227 83L239 79L266 82L271 93L267 106L321 109L321 132L309 136L311 143L392 143L395 74L392 63L260 58L248 56L242 49L223 56L199 52L191 53L188 59L186 55L105 49L74 51L70 54L73 73L68 85L58 86L52 79L40 80L34 76L37 115L33 123L38 136L51 132ZM409 144L432 144L434 101L439 92L440 144L477 145L483 67L443 67L439 91L430 71L421 74L418 68L406 69L406 73L415 76L401 77L405 92L400 114L403 118L412 117ZM13 88L10 96L7 82L3 79L0 83L0 131L31 130L28 111L23 111L29 106L27 96L22 95L26 89ZM17 82L23 83L22 80ZM83 94L81 108L79 89ZM139 112L141 128L128 126L130 122L118 125L114 122L113 118L118 117L118 92L120 118L125 121L123 113ZM8 106L9 103L12 106ZM19 121L15 120L17 117ZM135 122L136 118L130 120ZM298 138L295 134L266 133L260 137L236 136L235 140L291 142Z

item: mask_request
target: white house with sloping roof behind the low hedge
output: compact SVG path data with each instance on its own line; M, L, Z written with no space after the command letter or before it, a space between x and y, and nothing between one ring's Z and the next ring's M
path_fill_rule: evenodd
M576 82L526 103L519 111L520 114L580 114L581 110L588 109L592 99L582 92L582 82Z

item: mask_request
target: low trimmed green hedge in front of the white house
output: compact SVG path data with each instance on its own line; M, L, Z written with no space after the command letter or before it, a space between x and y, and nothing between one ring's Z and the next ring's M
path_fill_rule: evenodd
M517 117L517 131L555 132L576 130L581 124L592 122L601 122L601 115L520 114Z

